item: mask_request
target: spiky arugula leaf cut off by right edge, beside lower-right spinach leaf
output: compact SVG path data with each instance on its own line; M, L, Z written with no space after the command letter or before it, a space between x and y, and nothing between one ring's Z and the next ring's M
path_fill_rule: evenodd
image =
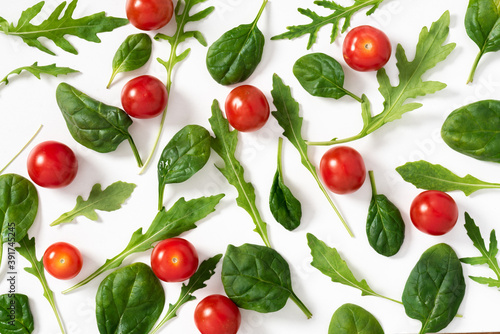
M496 279L494 278L486 278L486 277L476 277L469 276L473 281L477 283L486 284L490 287L495 287L500 289L500 265L498 264L498 260L496 256L498 255L498 242L495 230L492 230L490 233L490 245L489 249L486 248L484 244L483 237L481 236L481 231L479 227L476 225L474 220L470 217L470 215L465 213L465 229L467 230L467 235L472 240L474 247L476 247L481 256L476 257L466 257L461 258L460 261L470 265L483 265L487 264L488 267L493 270Z

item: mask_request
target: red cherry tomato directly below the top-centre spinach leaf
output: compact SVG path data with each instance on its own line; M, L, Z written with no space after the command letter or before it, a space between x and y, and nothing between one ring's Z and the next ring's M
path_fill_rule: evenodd
M270 113L264 93L251 85L234 88L226 98L225 109L229 124L242 132L263 127Z

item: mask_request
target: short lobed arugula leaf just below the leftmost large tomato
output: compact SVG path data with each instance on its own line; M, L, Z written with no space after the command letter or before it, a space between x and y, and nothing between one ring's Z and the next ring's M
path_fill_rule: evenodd
M50 226L70 223L79 216L85 216L96 221L98 219L96 210L111 212L120 209L135 187L135 184L117 181L101 190L101 185L96 183L92 187L87 200L84 200L82 196L78 196L75 207L71 211L63 213Z

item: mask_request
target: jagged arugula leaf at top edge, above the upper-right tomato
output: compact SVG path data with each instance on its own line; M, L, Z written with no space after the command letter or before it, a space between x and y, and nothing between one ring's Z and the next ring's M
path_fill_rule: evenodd
M366 15L371 15L383 1L384 0L354 0L354 4L349 7L341 6L333 0L314 1L316 5L324 7L326 9L330 9L333 11L333 13L328 16L321 16L311 9L299 8L299 13L310 18L312 22L308 24L286 27L286 29L288 30L287 32L274 36L271 39L294 39L303 35L309 35L309 41L307 42L307 49L309 50L316 42L318 31L322 27L328 24L332 24L333 28L330 37L330 43L333 43L337 38L339 31L344 33L347 28L349 28L349 26L351 25L351 18L354 13L371 6L370 10L368 10L368 12L366 13ZM342 25L342 30L340 30L340 22L342 20L344 20L344 24Z

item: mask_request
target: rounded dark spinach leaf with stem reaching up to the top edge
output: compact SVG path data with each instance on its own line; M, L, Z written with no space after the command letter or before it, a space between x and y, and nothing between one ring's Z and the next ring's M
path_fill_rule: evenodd
M221 85L245 81L259 65L265 38L257 27L257 22L267 2L268 0L264 0L252 23L229 30L208 48L208 72Z

